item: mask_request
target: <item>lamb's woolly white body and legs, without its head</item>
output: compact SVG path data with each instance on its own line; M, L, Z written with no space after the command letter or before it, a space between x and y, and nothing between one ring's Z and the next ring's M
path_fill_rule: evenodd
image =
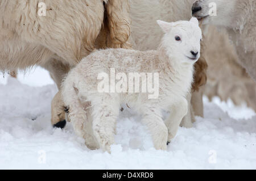
M121 58L123 58L122 61L118 61ZM177 109L183 112L180 121L187 113L187 101L184 97L191 86L193 68L192 65L190 68L177 68L177 65L163 63L163 58L168 60L166 56L159 57L158 52L154 50L139 52L136 50L108 49L90 54L70 71L63 83L63 99L65 105L69 107L69 119L75 132L85 138L88 148L96 149L100 146L104 150L110 150L109 146L114 143L115 120L118 117L121 103L123 103L141 113L147 121L153 118L147 124L155 125L154 128L149 128L155 134L153 136L153 139L155 138L155 148L166 149L167 128L164 123L160 122L161 111L162 109L170 111L171 102L181 106ZM92 60L100 61L86 63L92 62ZM134 65L136 66L134 67ZM110 75L110 68L112 67L116 68L117 73L159 73L159 98L148 99L147 93L99 93L96 78L100 73ZM168 74L168 72L175 75ZM168 84L168 87L166 84ZM89 105L89 107L86 107L86 105ZM89 117L92 117L90 118L92 120L88 120ZM92 123L89 123L90 121ZM142 121L146 123L146 120ZM90 131L91 125L93 131ZM105 128L103 128L104 125ZM177 124L177 127L179 127L179 124ZM158 132L158 129L161 132ZM177 128L173 125L172 129L174 132L170 135L170 139L175 136L175 129ZM89 134L90 132L93 133Z

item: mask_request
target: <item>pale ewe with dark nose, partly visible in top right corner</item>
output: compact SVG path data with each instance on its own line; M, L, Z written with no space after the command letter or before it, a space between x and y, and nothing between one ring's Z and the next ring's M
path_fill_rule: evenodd
M210 15L209 3L217 6L216 16ZM211 4L213 5L213 4ZM200 0L193 4L193 15L204 24L224 27L236 47L240 64L256 81L256 1Z

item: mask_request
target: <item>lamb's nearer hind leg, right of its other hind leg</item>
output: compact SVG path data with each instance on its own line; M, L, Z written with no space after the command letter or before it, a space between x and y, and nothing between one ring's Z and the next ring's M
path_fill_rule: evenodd
M91 101L93 132L100 148L110 152L114 144L115 123L119 113L119 105L109 95Z

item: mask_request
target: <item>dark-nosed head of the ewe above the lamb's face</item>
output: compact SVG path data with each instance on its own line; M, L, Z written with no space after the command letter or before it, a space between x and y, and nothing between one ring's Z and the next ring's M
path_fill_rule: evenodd
M232 26L237 0L199 0L193 3L192 15L203 24Z

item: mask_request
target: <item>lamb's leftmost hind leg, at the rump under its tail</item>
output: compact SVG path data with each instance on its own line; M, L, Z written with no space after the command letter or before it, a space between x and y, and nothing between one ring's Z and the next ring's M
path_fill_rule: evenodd
M71 74L65 80L61 98L68 106L68 117L75 133L85 139L85 144L89 149L97 149L98 144L92 132L92 108L88 101L88 90L85 89L88 86L79 81L76 75Z

